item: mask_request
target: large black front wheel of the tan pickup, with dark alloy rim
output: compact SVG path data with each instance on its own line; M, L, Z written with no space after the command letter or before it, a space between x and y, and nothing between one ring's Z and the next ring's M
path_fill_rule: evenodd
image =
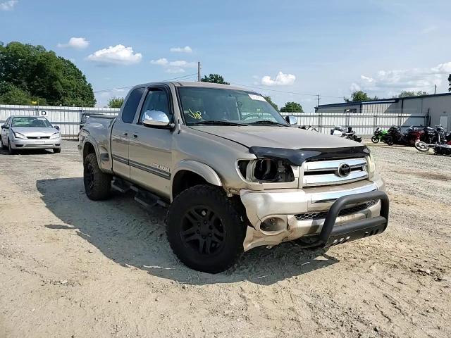
M181 192L169 207L166 225L175 256L204 273L227 270L243 252L242 213L219 187L200 184Z

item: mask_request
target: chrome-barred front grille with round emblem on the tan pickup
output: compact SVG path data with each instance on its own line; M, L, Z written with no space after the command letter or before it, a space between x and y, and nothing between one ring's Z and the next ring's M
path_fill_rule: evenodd
M366 180L369 177L367 164L365 158L306 162L302 186L314 187Z

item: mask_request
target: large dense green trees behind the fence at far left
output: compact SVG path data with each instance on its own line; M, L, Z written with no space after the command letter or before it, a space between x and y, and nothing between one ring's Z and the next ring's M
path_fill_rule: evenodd
M39 104L47 101L54 106L94 106L96 103L85 75L71 61L43 46L20 42L0 44L0 83L12 84L31 98L40 98Z

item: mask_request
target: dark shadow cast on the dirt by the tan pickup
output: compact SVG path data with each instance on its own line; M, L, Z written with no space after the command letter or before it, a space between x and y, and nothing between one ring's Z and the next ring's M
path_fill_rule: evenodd
M39 180L38 191L47 208L63 224L48 229L71 230L124 267L186 284L214 284L248 280L273 284L337 263L324 250L305 251L290 243L269 250L252 249L235 268L210 275L191 270L174 256L166 239L166 209L144 210L130 194L115 194L108 201L89 201L81 177Z

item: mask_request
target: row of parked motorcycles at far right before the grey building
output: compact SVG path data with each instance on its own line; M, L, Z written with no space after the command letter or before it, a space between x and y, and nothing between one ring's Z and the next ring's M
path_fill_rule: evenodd
M371 142L385 142L389 146L414 146L419 151L433 149L436 155L451 156L451 132L446 133L442 125L435 125L434 128L411 126L405 132L401 132L401 127L395 125L388 130L376 128Z

